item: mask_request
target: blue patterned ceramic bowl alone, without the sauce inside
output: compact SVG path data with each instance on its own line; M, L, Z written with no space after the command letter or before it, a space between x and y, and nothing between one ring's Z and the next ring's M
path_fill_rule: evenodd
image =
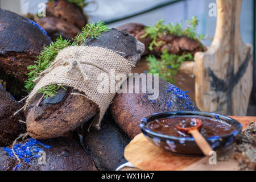
M168 113L156 113L146 118L143 118L139 126L141 127L141 131L146 136L146 138L158 147L164 148L174 154L203 155L200 148L195 143L195 139L193 137L175 137L171 135L164 135L160 133L155 133L154 131L151 131L146 127L146 124L148 122L154 121L155 119L182 115L195 115L209 118L218 118L222 121L225 121L226 123L229 123L229 125L232 125L235 128L235 130L229 134L206 138L207 142L210 144L214 151L220 150L224 147L228 147L234 142L234 140L237 139L238 135L240 135L242 131L241 123L236 121L235 119L220 114L205 113L200 111L176 111Z

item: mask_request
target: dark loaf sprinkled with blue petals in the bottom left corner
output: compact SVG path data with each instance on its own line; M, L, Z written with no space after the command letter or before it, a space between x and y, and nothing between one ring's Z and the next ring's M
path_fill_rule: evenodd
M23 144L28 140L24 140ZM4 171L96 171L93 160L90 155L86 154L84 149L73 139L60 137L51 140L40 141L44 145L48 145L51 148L45 148L42 145L36 143L36 145L27 145L28 150L32 150L34 147L40 147L45 152L45 164L38 162L39 158L34 157L30 159L30 163L24 159L20 159L21 163L18 166L19 161L13 155L11 158L5 151L5 148L0 148L0 168ZM10 149L10 147L9 147ZM7 150L9 151L9 150ZM22 151L22 149L20 149ZM10 152L10 151L9 151ZM26 151L27 152L27 151ZM18 152L17 152L18 153ZM38 155L38 154L33 154ZM27 156L28 158L29 156ZM43 162L43 161L42 161Z

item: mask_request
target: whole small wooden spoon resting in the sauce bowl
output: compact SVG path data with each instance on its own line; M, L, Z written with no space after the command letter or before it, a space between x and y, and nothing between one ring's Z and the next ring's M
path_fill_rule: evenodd
M187 127L187 123L185 124L186 124L185 127L184 127L184 123L176 124L177 130L179 130L184 134L191 134L192 137L195 139L197 146L199 146L203 154L205 156L208 156L209 152L213 151L213 149L212 147L210 147L207 140L205 140L204 137L200 134L200 130L203 127L203 122L201 121L201 119L192 119L188 127Z

